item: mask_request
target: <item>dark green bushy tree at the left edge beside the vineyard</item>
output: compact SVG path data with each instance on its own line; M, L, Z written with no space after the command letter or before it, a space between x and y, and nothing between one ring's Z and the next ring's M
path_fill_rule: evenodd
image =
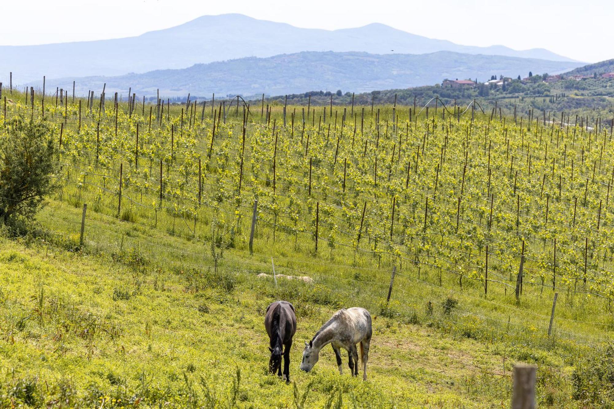
M44 120L15 117L0 129L0 224L34 216L56 188L58 158Z

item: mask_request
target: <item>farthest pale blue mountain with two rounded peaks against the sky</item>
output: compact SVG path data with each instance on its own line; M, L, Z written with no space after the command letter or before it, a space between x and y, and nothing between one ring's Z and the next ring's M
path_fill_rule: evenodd
M503 45L458 45L406 33L383 24L330 31L297 28L241 14L223 14L206 15L137 37L0 46L0 80L7 82L9 71L14 73L14 81L27 82L42 79L44 75L47 78L115 76L126 72L187 68L199 63L247 56L266 58L303 51L393 55L451 51L575 62L545 49L517 51Z

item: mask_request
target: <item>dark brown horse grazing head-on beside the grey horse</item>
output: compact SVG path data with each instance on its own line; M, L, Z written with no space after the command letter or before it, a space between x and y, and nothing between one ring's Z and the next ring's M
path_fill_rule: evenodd
M297 316L294 307L287 301L276 301L266 308L265 328L271 351L269 372L281 376L281 356L284 356L284 378L290 382L290 347L297 332Z

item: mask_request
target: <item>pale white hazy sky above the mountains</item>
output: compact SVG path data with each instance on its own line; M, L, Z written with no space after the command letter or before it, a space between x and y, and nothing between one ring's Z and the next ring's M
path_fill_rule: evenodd
M138 36L225 13L303 28L384 23L463 45L545 48L591 63L614 58L612 0L0 0L0 45Z

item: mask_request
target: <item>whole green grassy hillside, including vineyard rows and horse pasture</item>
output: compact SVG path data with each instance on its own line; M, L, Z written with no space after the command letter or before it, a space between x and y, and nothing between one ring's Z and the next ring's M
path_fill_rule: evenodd
M6 120L29 115L19 98ZM542 407L612 404L610 368L593 371L612 362L607 131L441 107L319 106L305 125L287 107L284 126L282 106L214 121L209 103L78 103L45 103L62 188L4 230L2 404L505 407L516 362L538 365ZM272 263L314 284L258 278ZM266 373L278 299L297 308L289 385ZM345 306L376 317L368 381L339 375L332 348L300 373L303 341Z

